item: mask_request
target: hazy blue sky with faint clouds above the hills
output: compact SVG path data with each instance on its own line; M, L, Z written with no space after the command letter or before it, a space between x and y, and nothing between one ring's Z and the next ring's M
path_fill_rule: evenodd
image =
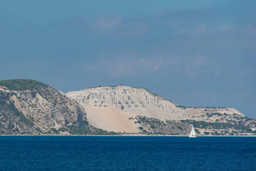
M124 84L256 119L255 0L0 0L0 80Z

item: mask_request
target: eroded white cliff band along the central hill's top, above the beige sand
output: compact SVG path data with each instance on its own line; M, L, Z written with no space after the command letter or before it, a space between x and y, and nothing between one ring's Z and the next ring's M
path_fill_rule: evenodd
M125 86L96 87L80 91L68 92L70 98L80 104L94 107L115 107L125 112L138 116L146 116L156 119L186 120L195 119L208 122L220 120L218 116L207 117L206 113L236 113L244 116L236 109L218 108L182 108L155 93L150 93L143 88ZM204 115L204 116L203 116Z

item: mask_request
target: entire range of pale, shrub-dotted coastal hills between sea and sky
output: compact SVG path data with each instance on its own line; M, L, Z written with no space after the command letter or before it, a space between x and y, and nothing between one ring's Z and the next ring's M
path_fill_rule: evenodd
M95 87L67 94L47 84L0 81L0 135L256 135L233 108L183 107L144 88Z

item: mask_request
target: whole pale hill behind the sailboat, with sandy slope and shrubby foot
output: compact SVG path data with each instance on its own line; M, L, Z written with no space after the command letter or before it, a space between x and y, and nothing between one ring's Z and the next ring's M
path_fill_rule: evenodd
M180 125L179 128L187 129L186 125L193 123L197 125L199 135L232 135L232 131L236 135L247 135L254 133L250 125L254 127L256 124L254 119L245 117L234 108L183 107L144 88L106 86L68 92L66 95L84 107L93 126L109 131L134 132L134 127L143 127L144 133L186 135L189 130L180 129L185 132L179 132L170 128ZM144 122L140 121L142 117ZM130 120L136 122L135 125L125 127L131 125ZM121 128L119 123L125 128Z

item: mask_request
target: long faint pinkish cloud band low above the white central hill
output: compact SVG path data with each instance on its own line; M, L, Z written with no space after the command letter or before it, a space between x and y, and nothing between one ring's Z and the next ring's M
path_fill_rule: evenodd
M101 60L85 67L86 72L100 72L114 78L136 77L142 74L167 74L183 72L189 77L195 77L200 67L207 65L207 58L162 58L162 57L133 57L119 56L109 60Z

